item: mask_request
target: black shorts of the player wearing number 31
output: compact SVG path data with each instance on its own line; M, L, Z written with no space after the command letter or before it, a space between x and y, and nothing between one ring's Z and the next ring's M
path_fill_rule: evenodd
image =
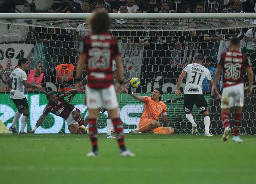
M207 102L203 94L184 94L183 107L186 114L192 112L194 104L199 110L199 113L207 111Z

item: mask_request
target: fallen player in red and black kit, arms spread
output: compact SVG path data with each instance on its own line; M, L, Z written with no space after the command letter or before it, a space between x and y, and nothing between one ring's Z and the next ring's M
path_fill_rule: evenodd
M84 88L84 86L81 88ZM79 91L81 90L82 89L79 89ZM43 115L37 120L33 130L28 133L35 132L36 129L43 123L48 113L53 113L57 116L64 118L67 121L68 130L71 134L86 133L87 130L84 126L84 121L81 119L80 110L64 100L65 96L68 96L70 94L74 95L77 91L77 89L73 89L58 95L55 95L53 92L48 92L46 94L48 104L44 108Z

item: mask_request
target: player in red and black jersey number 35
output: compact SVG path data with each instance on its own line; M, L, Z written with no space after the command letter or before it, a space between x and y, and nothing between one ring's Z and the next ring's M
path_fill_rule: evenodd
M239 138L239 130L242 119L242 108L244 104L244 85L243 76L244 68L248 72L249 86L247 88L247 95L252 93L252 81L253 73L250 60L240 50L240 39L234 37L230 41L230 50L224 52L221 55L220 62L217 66L217 71L214 76L214 82L212 86L212 93L217 94L217 81L220 77L221 70L223 70L223 91L221 99L221 120L224 126L224 134L222 136L223 141L227 141L231 128L229 127L229 112L231 107L235 107L234 116L234 133L233 141L242 142Z

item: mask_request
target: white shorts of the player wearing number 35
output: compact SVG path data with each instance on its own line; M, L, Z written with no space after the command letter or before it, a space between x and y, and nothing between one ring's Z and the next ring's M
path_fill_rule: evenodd
M223 88L221 98L221 108L243 107L244 86L243 83Z

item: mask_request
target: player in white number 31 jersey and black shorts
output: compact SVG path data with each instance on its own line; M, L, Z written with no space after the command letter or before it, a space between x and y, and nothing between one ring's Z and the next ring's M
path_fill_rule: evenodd
M211 137L213 135L210 134L210 117L209 111L207 108L207 102L204 98L202 92L202 82L206 78L209 81L210 86L212 87L212 77L210 71L202 65L204 61L204 57L201 53L195 54L195 59L192 64L188 64L183 71L181 72L178 83L177 89L175 91L175 96L179 96L181 82L183 81L184 77L187 76L186 86L184 90L184 111L186 113L186 118L191 122L193 129L192 134L198 134L197 125L195 124L194 117L192 115L192 109L194 104L197 106L199 113L204 115L203 123L205 126L205 136ZM217 92L218 98L221 98L219 93Z

